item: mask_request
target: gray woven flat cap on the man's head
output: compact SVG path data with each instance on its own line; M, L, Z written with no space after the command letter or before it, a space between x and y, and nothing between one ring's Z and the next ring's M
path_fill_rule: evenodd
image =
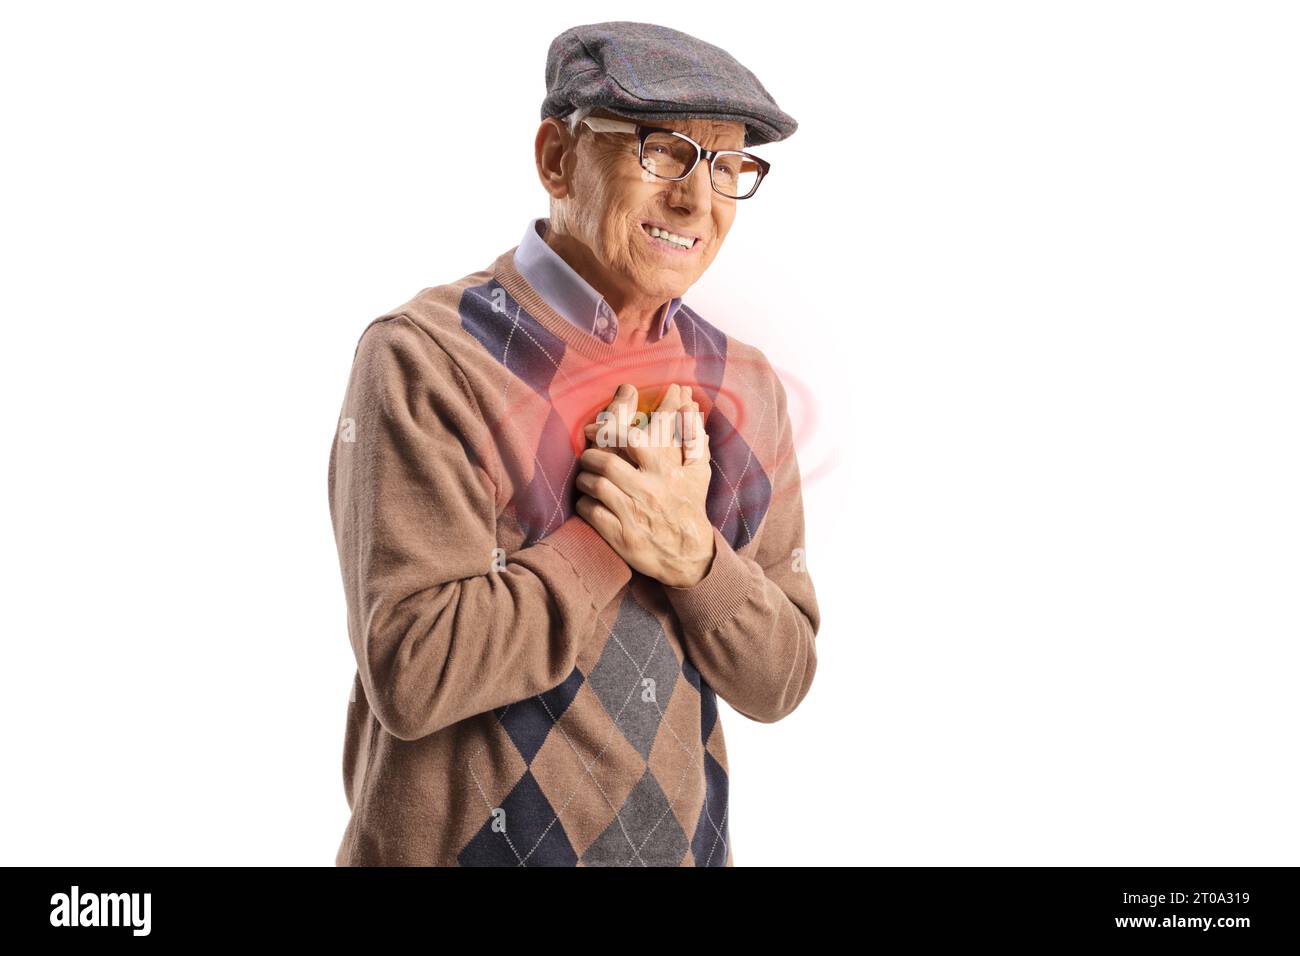
M798 129L725 49L655 23L586 23L551 40L541 118L580 107L633 120L744 122L746 146L785 139Z

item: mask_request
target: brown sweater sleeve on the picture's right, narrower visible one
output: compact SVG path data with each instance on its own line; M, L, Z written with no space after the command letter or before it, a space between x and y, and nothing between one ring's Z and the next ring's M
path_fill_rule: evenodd
M785 388L767 368L776 389L777 464L754 557L738 554L715 527L705 578L690 588L664 588L701 676L738 713L762 723L780 721L807 695L820 626L803 562L803 497Z

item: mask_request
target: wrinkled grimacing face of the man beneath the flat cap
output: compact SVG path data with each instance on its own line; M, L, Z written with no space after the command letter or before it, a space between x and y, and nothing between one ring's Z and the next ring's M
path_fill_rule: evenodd
M594 116L610 116L598 111ZM714 120L654 120L651 126L685 133L706 150L745 148L745 126ZM572 189L564 202L566 226L599 260L610 280L633 297L655 302L682 295L712 263L736 217L734 199L719 195L701 159L689 177L659 179L637 163L633 133L578 130ZM651 238L655 225L694 237L690 248Z

